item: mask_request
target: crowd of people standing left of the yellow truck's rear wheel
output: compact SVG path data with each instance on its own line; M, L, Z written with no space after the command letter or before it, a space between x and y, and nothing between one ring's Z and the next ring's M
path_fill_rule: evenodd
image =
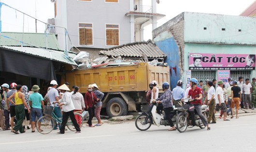
M72 86L72 91L69 89L69 83L64 83L58 87L57 81L50 82L47 94L43 97L39 93L39 86L33 85L31 91L28 91L28 86L11 83L1 85L0 93L0 127L2 130L11 130L14 134L25 133L30 129L35 132L36 120L43 116L43 111L46 106L53 109L53 113L57 119L61 120L61 124L53 126L54 129L59 129L59 134L65 133L65 126L68 118L76 129L75 133L81 132L81 117L75 116L74 112L82 113L87 110L89 112L89 127L100 126L103 123L100 119L100 111L102 107L101 99L104 94L99 91L96 83L88 86L88 92L85 97L79 92L78 86ZM71 92L69 92L71 91ZM53 108L54 107L54 108ZM92 118L96 116L98 123L92 124ZM11 118L11 119L10 119ZM11 127L11 128L10 128ZM38 129L41 129L41 122L38 122Z

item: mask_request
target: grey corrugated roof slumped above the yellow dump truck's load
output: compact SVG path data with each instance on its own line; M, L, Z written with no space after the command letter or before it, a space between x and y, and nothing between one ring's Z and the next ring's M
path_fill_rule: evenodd
M107 50L102 50L99 54L114 57L142 57L143 54L149 58L166 57L166 55L151 40L123 44Z

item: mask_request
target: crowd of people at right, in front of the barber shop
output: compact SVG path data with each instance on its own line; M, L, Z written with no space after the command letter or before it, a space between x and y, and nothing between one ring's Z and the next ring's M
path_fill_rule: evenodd
M191 104L194 105L202 123L207 126L207 130L211 130L210 124L216 124L215 114L217 111L220 111L219 119L222 119L223 116L224 121L229 121L227 115L230 114L231 119L234 117L239 118L238 110L240 108L254 110L256 106L256 78L253 78L251 83L248 78L245 79L245 83L243 83L243 77L239 77L239 81L233 81L232 78L228 78L226 85L223 81L217 82L215 79L213 79L213 81L206 80L203 85L203 81L198 82L197 79L192 78L185 90L182 88L183 82L179 80L172 92L169 89L169 84L165 84L164 86L163 83L164 94L159 98L156 84L156 81L149 84L150 90L148 90L146 94L146 99L150 102L156 101L160 103L156 107L156 111L158 114L160 114L161 110L165 111L166 118L171 125L169 131L176 130L171 122L170 113L173 108L179 106L179 103L184 101L185 98L194 99ZM207 120L201 114L202 104L209 106ZM234 109L236 109L235 116Z

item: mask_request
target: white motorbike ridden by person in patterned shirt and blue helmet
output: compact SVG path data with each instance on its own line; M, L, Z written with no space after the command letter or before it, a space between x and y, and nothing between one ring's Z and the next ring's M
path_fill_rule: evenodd
M135 120L135 126L137 129L145 131L150 128L151 124L155 124L157 126L170 126L169 121L165 119L164 111L160 112L161 114L158 114L156 112L156 106L156 101L153 101L151 105L141 105L142 112L139 112L140 115L138 115ZM178 111L176 108L171 111L171 115L171 121L173 122L173 124L175 124L178 115Z

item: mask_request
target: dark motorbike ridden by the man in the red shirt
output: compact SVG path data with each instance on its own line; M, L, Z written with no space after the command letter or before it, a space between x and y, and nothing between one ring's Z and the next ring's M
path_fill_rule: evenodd
M194 125L192 125L192 119L191 119L191 115L189 112L189 108L193 108L193 104L191 104L192 101L194 101L195 99L190 99L190 98L185 98L184 102L185 104L182 105L181 103L179 103L180 107L177 108L177 111L179 112L177 119L176 119L176 129L183 133L186 131L187 128L191 128ZM209 116L209 106L208 105L202 105L202 114L203 116L206 118L208 118ZM201 129L204 129L206 126L203 125L197 111L195 111L195 126L199 126Z

